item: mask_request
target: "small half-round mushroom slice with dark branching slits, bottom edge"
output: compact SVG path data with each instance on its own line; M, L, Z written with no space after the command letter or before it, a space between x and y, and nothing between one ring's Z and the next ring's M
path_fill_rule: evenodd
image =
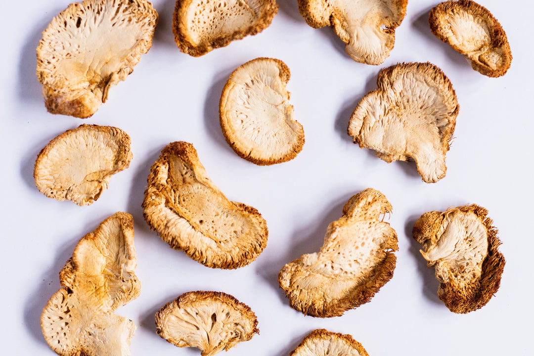
M197 347L202 356L228 351L259 334L248 305L222 292L185 293L156 313L156 332L178 347Z

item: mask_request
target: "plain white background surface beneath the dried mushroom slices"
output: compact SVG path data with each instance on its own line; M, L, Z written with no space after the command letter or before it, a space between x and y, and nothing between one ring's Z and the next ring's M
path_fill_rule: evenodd
M58 273L77 241L116 211L135 220L142 281L139 298L117 310L137 325L132 355L198 355L155 334L154 313L192 290L224 291L256 313L260 335L229 355L282 356L312 329L351 334L371 356L393 353L532 355L532 268L534 250L531 155L531 2L484 0L512 48L504 77L475 72L449 45L435 38L427 18L437 1L411 0L396 31L395 48L380 66L352 61L329 28L313 29L296 0L279 1L272 25L200 58L181 53L171 33L174 0L155 0L160 15L152 49L91 118L46 112L35 76L35 49L52 17L68 0L2 1L2 354L52 355L39 324L48 298L59 288ZM256 57L283 60L291 71L288 90L306 143L296 159L258 167L226 144L218 123L218 101L230 73ZM430 61L441 67L460 105L446 156L446 177L426 184L413 162L387 164L358 148L346 129L352 110L376 75L397 62ZM82 123L117 126L132 139L130 168L88 207L59 202L37 191L32 177L38 152ZM140 205L151 164L171 141L198 150L214 183L230 200L257 208L267 221L269 241L252 264L213 270L172 250L151 232ZM399 251L394 277L363 306L342 317L305 317L289 307L278 287L284 264L318 251L327 225L341 216L351 195L373 187L393 205L389 223ZM501 287L481 310L457 315L437 298L438 282L412 239L414 221L429 210L476 203L487 208L506 258Z

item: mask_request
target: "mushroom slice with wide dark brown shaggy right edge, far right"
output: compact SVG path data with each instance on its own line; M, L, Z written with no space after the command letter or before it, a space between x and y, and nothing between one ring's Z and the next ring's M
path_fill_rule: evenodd
M439 299L454 313L483 307L497 292L504 270L500 240L488 210L465 205L424 213L413 227L421 254L441 282Z

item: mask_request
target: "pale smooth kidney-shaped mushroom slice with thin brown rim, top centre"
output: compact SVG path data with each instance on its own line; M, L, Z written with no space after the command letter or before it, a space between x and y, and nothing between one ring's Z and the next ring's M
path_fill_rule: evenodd
M274 164L292 160L304 145L302 125L289 104L289 68L256 58L235 69L224 86L219 114L226 142L247 161Z

